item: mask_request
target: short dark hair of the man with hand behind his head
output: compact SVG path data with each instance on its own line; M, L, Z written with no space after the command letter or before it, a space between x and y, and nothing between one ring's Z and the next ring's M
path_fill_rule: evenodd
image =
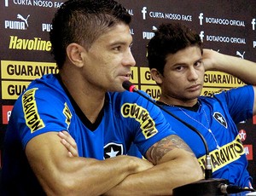
M166 57L188 46L198 46L202 52L200 36L181 23L161 24L148 43L148 66L161 74L164 72Z

